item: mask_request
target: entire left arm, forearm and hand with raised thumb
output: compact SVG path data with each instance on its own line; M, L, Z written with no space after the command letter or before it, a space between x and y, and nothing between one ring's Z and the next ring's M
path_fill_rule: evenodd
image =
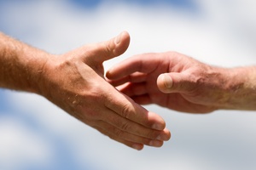
M43 95L99 132L137 150L170 139L164 120L120 94L103 77L103 61L123 54L130 36L48 54L0 34L0 87Z

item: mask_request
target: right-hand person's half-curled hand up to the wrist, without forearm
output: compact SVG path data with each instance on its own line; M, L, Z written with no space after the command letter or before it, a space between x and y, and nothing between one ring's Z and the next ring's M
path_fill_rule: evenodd
M229 99L224 69L183 54L140 54L107 72L108 82L140 105L157 104L175 111L207 113ZM128 82L128 83L126 83Z

